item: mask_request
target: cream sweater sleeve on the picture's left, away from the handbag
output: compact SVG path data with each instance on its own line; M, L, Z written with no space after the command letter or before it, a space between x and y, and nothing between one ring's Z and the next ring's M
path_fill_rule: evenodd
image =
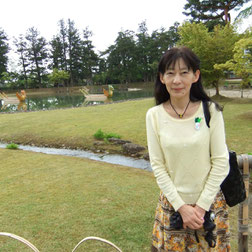
M146 114L146 131L150 163L159 188L172 204L175 211L177 211L185 202L181 199L167 172L158 134L157 118L156 114L153 112L153 110L149 110Z

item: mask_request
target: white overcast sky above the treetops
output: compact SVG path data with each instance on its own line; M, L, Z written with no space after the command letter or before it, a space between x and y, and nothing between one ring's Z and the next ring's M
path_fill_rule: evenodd
M35 27L47 40L58 33L58 21L68 18L81 32L85 27L93 32L97 51L112 45L119 31L133 30L146 21L149 33L174 22L182 23L186 0L3 0L0 28L8 37L18 37ZM237 14L236 12L235 14ZM235 15L232 14L232 18ZM246 25L252 24L251 18Z

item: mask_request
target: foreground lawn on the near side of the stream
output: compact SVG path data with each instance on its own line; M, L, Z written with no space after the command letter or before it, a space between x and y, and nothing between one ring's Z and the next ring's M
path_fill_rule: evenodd
M72 251L87 236L149 251L159 191L152 173L21 150L0 149L0 160L1 232L40 251ZM1 252L21 251L10 238L0 241ZM93 245L78 251L101 251Z

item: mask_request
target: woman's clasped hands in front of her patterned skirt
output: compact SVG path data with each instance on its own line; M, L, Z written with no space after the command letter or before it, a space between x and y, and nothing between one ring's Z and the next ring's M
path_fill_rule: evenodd
M178 209L183 219L183 228L199 229L203 226L204 218L200 217L196 209L190 205L183 205Z

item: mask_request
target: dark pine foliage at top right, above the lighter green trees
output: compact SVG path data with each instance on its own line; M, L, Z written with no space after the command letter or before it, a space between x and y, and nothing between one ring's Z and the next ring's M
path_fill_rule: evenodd
M191 16L194 22L206 23L210 30L217 24L225 25L231 22L230 10L238 10L250 0L187 0L183 12Z

